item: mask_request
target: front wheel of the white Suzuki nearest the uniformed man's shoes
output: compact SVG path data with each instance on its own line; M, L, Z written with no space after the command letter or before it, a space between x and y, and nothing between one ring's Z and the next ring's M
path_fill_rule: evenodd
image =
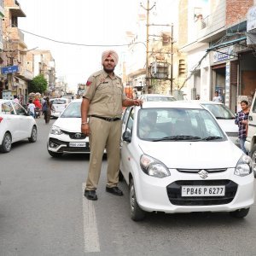
M132 220L138 221L145 218L146 212L144 212L137 204L136 192L132 178L130 182L130 207Z

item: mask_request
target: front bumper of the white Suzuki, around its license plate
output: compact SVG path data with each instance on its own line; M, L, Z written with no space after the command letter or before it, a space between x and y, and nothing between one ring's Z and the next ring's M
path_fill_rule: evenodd
M253 173L246 177L234 175L235 169L210 173L201 179L197 173L172 170L171 177L156 178L140 172L134 178L139 206L147 212L232 212L253 205ZM182 197L181 186L224 185L225 195L219 197ZM196 202L195 202L196 201Z

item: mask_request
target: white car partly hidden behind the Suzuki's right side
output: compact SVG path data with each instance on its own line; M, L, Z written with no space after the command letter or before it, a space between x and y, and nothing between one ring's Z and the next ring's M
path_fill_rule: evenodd
M221 102L203 102L192 101L200 103L204 108L207 108L218 121L218 125L225 131L230 140L240 148L238 139L238 126L235 124L236 114L230 108Z

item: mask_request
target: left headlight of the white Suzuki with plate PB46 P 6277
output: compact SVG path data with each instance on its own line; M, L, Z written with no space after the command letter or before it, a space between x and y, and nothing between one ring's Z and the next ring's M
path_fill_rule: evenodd
M140 160L141 168L143 172L153 177L167 177L170 176L168 168L159 160L153 157L143 154Z

